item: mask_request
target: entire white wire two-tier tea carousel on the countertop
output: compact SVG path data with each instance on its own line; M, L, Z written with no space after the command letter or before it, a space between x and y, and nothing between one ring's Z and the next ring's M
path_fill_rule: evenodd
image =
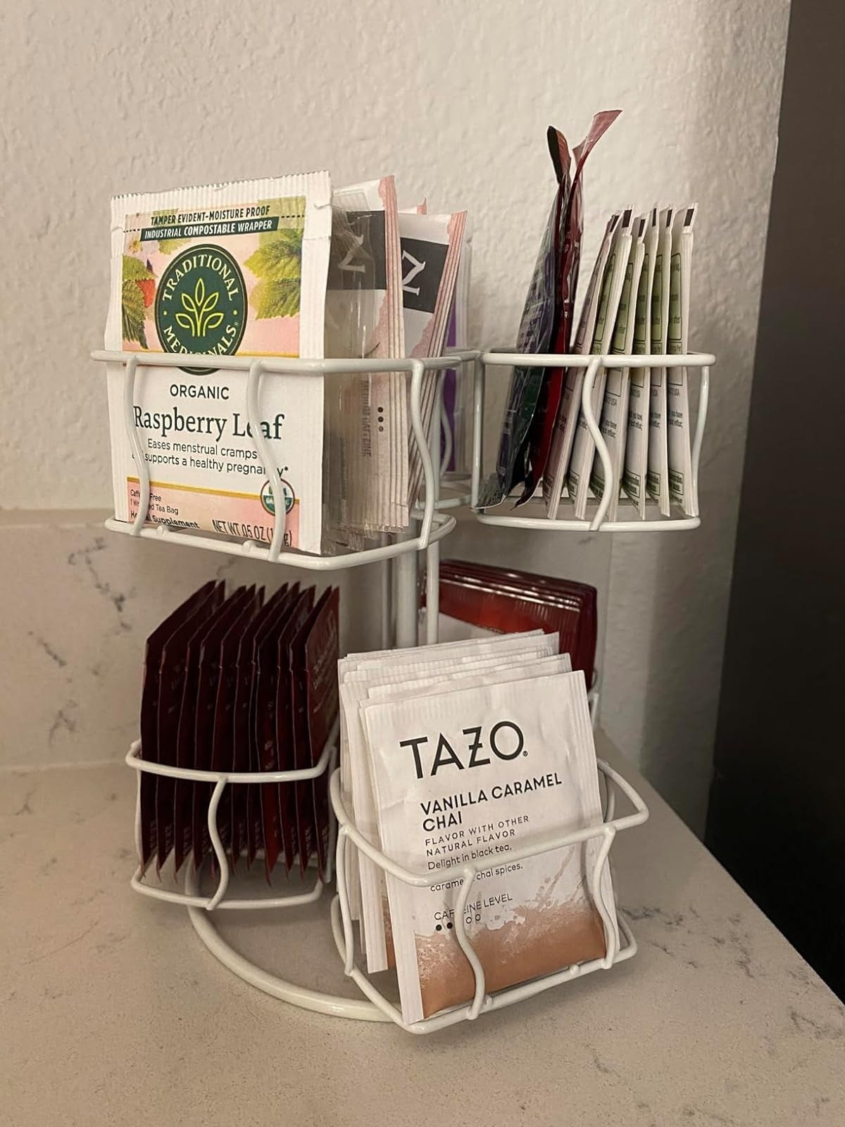
M247 372L244 406L246 415L250 423L251 433L256 436L258 453L264 463L270 468L270 489L274 497L274 533L269 545L258 544L255 541L232 541L216 539L188 531L177 531L163 524L150 525L144 523L144 516L149 505L150 474L146 460L143 455L141 438L135 429L133 412L133 396L135 373L139 366L152 367L179 367L184 364L184 357L178 355L167 355L159 353L114 353L96 352L94 358L104 362L118 363L124 366L124 419L127 435L132 444L140 479L140 503L139 511L133 522L108 520L106 526L115 532L126 533L144 539L157 539L169 543L189 544L194 548L202 548L215 552L243 556L256 559L264 559L273 564L284 564L294 567L310 568L317 571L336 571L339 569L358 567L371 562L382 564L382 604L384 610L384 621L389 618L395 620L395 637L391 639L395 645L416 645L417 641L417 553L426 552L427 564L427 616L426 616L426 640L433 642L437 640L437 618L438 618L438 574L439 574L439 541L455 525L454 517L443 512L443 509L456 507L465 504L469 499L475 500L479 496L481 480L481 423L483 415L483 382L484 369L487 365L512 366L515 362L532 365L557 367L578 364L587 367L587 379L584 384L582 406L590 433L596 440L599 456L605 464L607 473L610 454L606 444L596 426L594 414L592 412L588 390L593 380L598 374L601 365L605 363L605 357L601 356L514 356L506 353L479 353L473 350L462 350L450 356L436 360L391 360L391 361L308 361L308 360L282 360L282 358L256 358L250 357L221 357L221 356L196 356L192 355L192 367L213 370L232 370ZM443 372L446 369L470 365L478 362L475 366L474 384L474 433L473 433L473 459L471 483L451 482L448 495L441 500L439 490L442 482L442 464L439 434L433 434L430 438L425 435L421 414L421 387L426 371ZM700 367L702 372L701 397L699 408L699 421L695 433L694 444L694 468L697 474L699 454L701 451L701 440L704 429L704 418L706 415L706 392L708 392L708 366L713 362L712 356L681 356L681 357L613 357L614 365L631 363L644 366L656 366L664 364L685 365L687 367ZM273 378L275 374L285 373L310 373L313 375L332 376L348 372L373 372L373 371L404 371L409 373L409 405L411 416L411 431L421 458L424 497L421 505L413 511L415 526L407 536L391 538L380 547L357 552L345 552L337 556L310 556L300 551L284 551L282 548L284 536L284 505L282 504L282 482L278 471L273 468L273 460L269 456L269 445L263 436L258 419L260 388L265 378ZM438 388L438 397L442 388ZM435 406L435 417L441 414L441 399ZM437 428L433 427L433 432ZM445 459L444 459L445 463ZM437 465L437 472L435 469ZM608 474L610 476L610 474ZM469 487L469 488L468 488ZM471 498L470 498L471 489ZM666 521L644 522L610 522L604 521L606 506L610 496L598 506L598 511L592 522L587 521L545 521L525 516L510 516L498 514L478 513L481 523L514 525L518 527L557 527L559 530L584 530L585 527L601 527L603 531L651 531L653 527L673 525L674 527L693 527L697 525L697 518L682 521L677 518ZM385 538L386 540L388 538ZM390 575L385 570L388 562L395 569L395 585L390 582ZM388 582L384 580L386 576ZM392 604L395 603L393 606ZM393 615L393 612L395 614ZM596 693L592 694L590 707L595 718ZM615 931L608 928L608 914L606 905L601 902L598 895L598 880L604 864L615 837L620 829L640 825L648 818L648 809L634 791L634 789L613 771L607 764L599 761L599 772L605 782L605 808L603 823L599 826L579 831L575 834L551 835L542 840L526 844L522 850L515 851L514 857L527 857L545 850L559 849L569 844L584 842L589 837L602 837L602 849L596 866L590 875L590 891L605 924L606 955L603 959L596 959L587 964L568 967L557 974L544 976L507 991L498 992L495 995L486 993L483 968L475 955L472 943L465 933L465 929L459 919L462 913L460 908L465 905L471 888L472 880L478 870L477 866L459 866L457 870L463 878L461 895L459 897L456 913L455 934L461 944L474 975L474 995L470 1003L457 1006L444 1013L436 1014L422 1022L413 1026L406 1026L401 1020L401 1013L393 1003L385 999L377 988L367 979L364 973L355 965L354 958L354 934L353 924L348 912L348 896L345 887L344 855L349 848L357 848L367 853L372 860L386 872L398 879L409 881L418 887L425 887L443 880L444 870L438 870L436 878L429 878L427 873L413 873L392 860L386 858L381 851L374 849L358 833L354 823L349 818L348 811L344 808L339 793L339 779L337 772L332 773L336 762L336 738L333 731L323 748L318 763L312 767L287 772L214 772L194 771L188 769L170 767L163 764L152 763L141 758L141 746L136 742L132 745L126 762L137 772L139 796L141 790L141 774L150 772L158 775L169 775L176 779L186 779L210 784L211 799L207 809L207 828L212 842L213 855L216 859L216 886L207 894L201 891L199 873L188 862L184 878L184 889L169 889L157 887L148 881L139 867L132 878L133 888L139 893L155 899L168 900L181 904L187 908L190 922L201 941L224 966L235 975L252 986L282 1001L295 1004L303 1009L327 1013L335 1017L353 1018L366 1021L393 1021L402 1028L415 1033L429 1032L441 1029L444 1026L453 1024L462 1020L473 1020L481 1013L501 1009L523 999L531 997L544 990L563 982L569 982L576 977L589 974L597 969L608 969L617 962L630 959L637 951L637 943L628 923L617 914L621 937L620 944ZM286 896L261 896L261 897L239 897L232 893L232 873L229 859L225 854L223 843L216 827L216 811L219 804L225 792L225 788L231 784L284 784L304 780L324 779L331 777L330 797L331 807L337 816L339 829L333 820L330 827L330 860L324 873L324 881L315 880L305 891ZM622 792L633 807L633 813L623 817L615 817L615 795ZM140 800L136 806L136 838L140 838ZM137 842L140 845L140 840ZM333 857L332 857L333 853ZM240 952L234 950L222 939L212 922L213 913L216 911L258 911L258 909L284 909L288 907L311 904L320 899L326 885L332 878L332 868L338 878L338 893L331 903L331 928L338 952L344 962L345 974L355 982L365 995L363 999L348 999L333 994L326 994L319 991L300 986L287 982L276 975L265 970L246 959Z

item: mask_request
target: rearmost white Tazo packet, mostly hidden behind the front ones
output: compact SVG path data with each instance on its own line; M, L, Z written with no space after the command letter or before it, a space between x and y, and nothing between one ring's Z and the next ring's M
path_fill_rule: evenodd
M348 808L354 815L359 832L373 845L379 844L375 804L372 791L370 763L366 757L364 731L361 726L359 706L367 698L371 685L402 684L424 675L444 677L462 675L477 667L498 663L515 664L517 660L548 657L558 651L558 635L540 632L525 635L502 635L491 639L479 639L456 645L428 646L397 651L397 656L409 658L391 663L373 658L363 668L343 668L340 663L340 716L341 716L341 787ZM428 660L424 658L429 656ZM346 659L348 662L348 659ZM344 771L346 767L346 773ZM384 935L383 875L365 855L357 858L357 880L359 882L361 919L365 933L367 969L373 973L392 965L389 943ZM356 890L357 895L357 890ZM353 902L350 896L350 904ZM356 903L357 907L357 903ZM354 919L358 916L354 915Z

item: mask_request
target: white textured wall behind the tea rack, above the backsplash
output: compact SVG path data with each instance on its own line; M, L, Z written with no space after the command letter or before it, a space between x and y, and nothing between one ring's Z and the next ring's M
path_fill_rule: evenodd
M545 126L575 141L594 110L622 106L588 166L584 269L611 207L697 197L694 344L721 363L706 531L683 545L613 549L605 718L695 816L786 9L786 0L6 5L3 250L7 273L21 273L5 289L0 320L15 357L0 371L0 505L110 500L105 389L87 356L105 322L113 193L323 166L341 183L393 171L406 202L427 194L435 207L471 212L474 334L502 340L514 336L549 207ZM571 550L561 545L561 558ZM602 586L610 551L610 542L590 551Z

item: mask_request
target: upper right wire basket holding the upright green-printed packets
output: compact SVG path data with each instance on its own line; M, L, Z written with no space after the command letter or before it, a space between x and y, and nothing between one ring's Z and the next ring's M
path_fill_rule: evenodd
M683 532L690 529L697 529L701 518L697 516L678 516L673 513L670 516L660 516L657 506L649 504L646 520L617 520L607 521L607 509L611 504L611 490L605 489L601 500L593 498L588 502L592 509L589 520L575 520L571 517L550 518L543 511L537 515L539 506L543 505L542 499L532 499L526 505L514 512L513 498L496 508L480 508L479 498L481 496L481 473L483 465L483 418L484 418L484 382L488 367L513 369L522 367L544 367L544 369L586 369L581 383L581 412L587 424L590 435L596 444L596 453L602 461L605 481L612 481L613 463L607 443L593 410L593 388L603 367L661 367L674 369L684 367L688 371L697 371L699 383L699 412L695 424L695 432L692 441L692 481L691 495L693 498L693 509L699 512L699 462L701 458L701 445L704 438L704 427L708 418L708 399L710 392L710 366L715 363L715 356L710 353L688 353L678 356L659 355L577 355L569 353L539 354L492 350L479 354L475 369L475 393L474 393L474 428L473 428L473 456L472 456L472 492L471 504L475 511L475 520L481 524L492 524L500 527L531 529L539 532ZM563 492L564 504L567 494ZM512 504L512 508L504 512L504 505ZM622 507L630 507L631 503L624 495L620 498Z

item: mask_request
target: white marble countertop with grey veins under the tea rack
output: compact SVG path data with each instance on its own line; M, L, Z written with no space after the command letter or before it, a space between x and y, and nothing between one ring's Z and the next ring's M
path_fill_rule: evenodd
M0 1120L842 1127L845 1008L625 773L651 807L614 846L637 958L429 1037L275 1002L183 909L132 893L125 766L5 774ZM355 995L326 905L226 929L269 969Z

